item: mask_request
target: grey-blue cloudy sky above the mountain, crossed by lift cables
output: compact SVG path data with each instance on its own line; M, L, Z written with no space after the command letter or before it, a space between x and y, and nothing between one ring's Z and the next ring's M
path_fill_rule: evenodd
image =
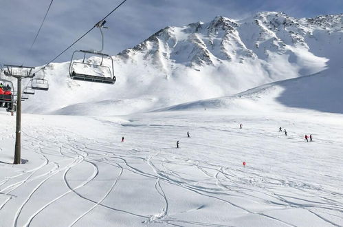
M122 0L54 0L40 36L27 52L50 0L0 1L0 63L43 65L59 54ZM104 52L118 54L168 25L210 21L217 15L242 19L261 11L281 11L292 17L316 17L343 12L343 0L128 0L107 19ZM76 49L98 49L94 30ZM69 61L71 52L56 61Z

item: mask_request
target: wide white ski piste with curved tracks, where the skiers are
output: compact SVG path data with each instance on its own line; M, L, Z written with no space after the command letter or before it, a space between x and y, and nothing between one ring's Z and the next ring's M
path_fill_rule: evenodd
M342 115L244 106L24 114L21 165L1 112L0 226L342 226Z

